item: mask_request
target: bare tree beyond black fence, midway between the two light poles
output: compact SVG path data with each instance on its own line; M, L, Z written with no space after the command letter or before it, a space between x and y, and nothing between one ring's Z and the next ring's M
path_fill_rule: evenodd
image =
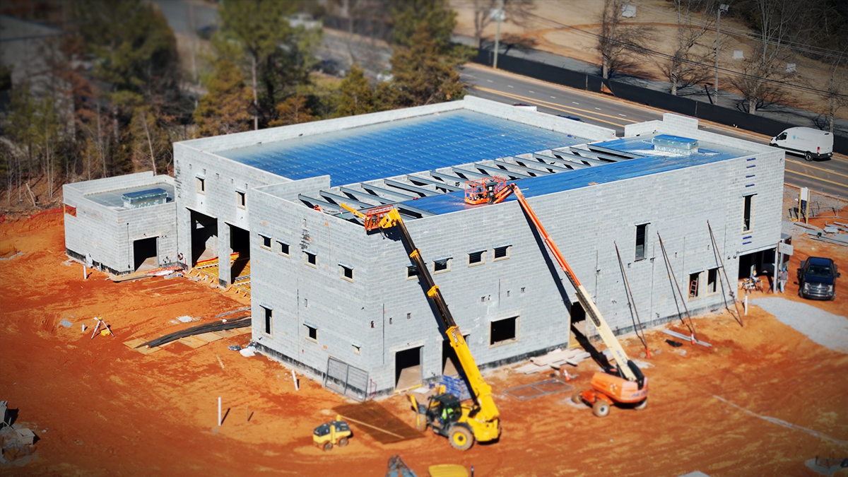
M633 53L644 50L654 28L626 21L622 9L627 0L604 0L604 9L598 18L600 38L595 49L600 54L600 73L605 78L633 70L637 61Z

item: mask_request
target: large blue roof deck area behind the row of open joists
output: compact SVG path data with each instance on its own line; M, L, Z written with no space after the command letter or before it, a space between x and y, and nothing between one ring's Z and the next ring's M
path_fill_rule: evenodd
M329 174L336 186L588 142L458 109L216 154L291 179Z

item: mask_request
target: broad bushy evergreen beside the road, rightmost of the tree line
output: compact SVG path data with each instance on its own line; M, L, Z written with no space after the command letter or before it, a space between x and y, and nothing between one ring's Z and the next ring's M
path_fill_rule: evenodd
M396 48L391 59L393 79L382 83L383 108L408 108L443 103L465 96L457 67L462 59L439 53L427 24L418 26L411 48Z

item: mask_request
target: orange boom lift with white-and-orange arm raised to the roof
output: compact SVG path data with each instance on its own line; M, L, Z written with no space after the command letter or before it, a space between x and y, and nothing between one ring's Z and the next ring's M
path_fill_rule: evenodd
M610 406L613 404L630 404L634 405L635 409L644 409L648 404L648 379L644 377L642 370L628 358L621 343L616 339L616 335L612 333L610 325L601 316L598 307L595 306L594 301L589 297L589 293L577 279L577 275L562 256L554 240L544 229L542 222L539 222L538 216L533 212L533 208L527 203L527 199L524 198L524 194L515 182L507 184L502 177L485 177L466 182L467 204L498 204L512 194L516 195L522 210L533 222L533 227L536 227L551 255L554 255L562 272L572 283L574 291L577 293L577 300L583 306L586 315L592 320L595 328L598 329L601 340L604 340L604 344L610 349L616 362L615 367L605 368L603 373L595 373L592 377L592 389L575 392L573 395L574 401L587 402L592 406L594 415L599 418L609 414Z

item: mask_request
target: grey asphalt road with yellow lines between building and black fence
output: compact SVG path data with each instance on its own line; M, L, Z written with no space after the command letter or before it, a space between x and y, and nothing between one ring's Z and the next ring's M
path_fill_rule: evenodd
M615 129L619 136L628 124L662 119L662 112L657 109L477 65L466 65L462 76L471 85L474 96L500 103L534 105L545 113L577 117L589 124ZM769 139L761 134L708 124L701 125L701 129L757 143L767 144ZM786 154L784 182L848 197L848 158L836 155L830 160L806 162L802 157Z

